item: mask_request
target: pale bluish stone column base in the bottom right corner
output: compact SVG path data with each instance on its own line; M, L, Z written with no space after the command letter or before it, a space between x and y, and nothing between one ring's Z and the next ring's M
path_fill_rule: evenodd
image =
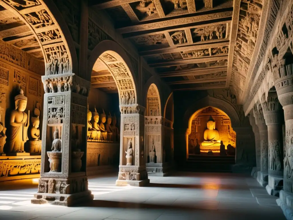
M293 194L280 191L280 198L276 199L278 206L281 207L286 219L293 220Z

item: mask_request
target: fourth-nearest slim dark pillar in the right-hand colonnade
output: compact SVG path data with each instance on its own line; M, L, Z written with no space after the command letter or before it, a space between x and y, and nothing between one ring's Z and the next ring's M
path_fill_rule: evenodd
M253 167L251 171L251 176L255 179L257 178L257 172L260 171L260 134L258 130L258 126L255 124L255 118L253 117L253 112L248 115L249 122L252 126L252 130L254 133L255 140L255 155L256 155L256 167Z

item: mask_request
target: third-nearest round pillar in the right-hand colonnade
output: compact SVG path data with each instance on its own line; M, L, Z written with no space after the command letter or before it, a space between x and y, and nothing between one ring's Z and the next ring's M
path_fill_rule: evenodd
M253 116L260 134L260 171L258 171L257 181L265 187L268 185L268 127L265 124L260 103L253 106Z

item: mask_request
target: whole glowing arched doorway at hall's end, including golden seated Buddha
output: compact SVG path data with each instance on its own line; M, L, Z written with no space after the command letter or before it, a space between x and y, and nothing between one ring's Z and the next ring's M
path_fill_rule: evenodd
M236 133L229 116L213 106L197 110L188 121L186 148L188 158L190 155L235 156Z

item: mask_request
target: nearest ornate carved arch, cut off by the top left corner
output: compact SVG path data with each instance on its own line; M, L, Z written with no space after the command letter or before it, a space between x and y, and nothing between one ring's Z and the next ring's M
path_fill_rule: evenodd
M78 70L71 34L52 0L46 0L46 3L42 0L23 1L22 4L3 0L0 5L18 16L32 31L44 57L45 75L68 74ZM53 68L54 65L57 68Z

